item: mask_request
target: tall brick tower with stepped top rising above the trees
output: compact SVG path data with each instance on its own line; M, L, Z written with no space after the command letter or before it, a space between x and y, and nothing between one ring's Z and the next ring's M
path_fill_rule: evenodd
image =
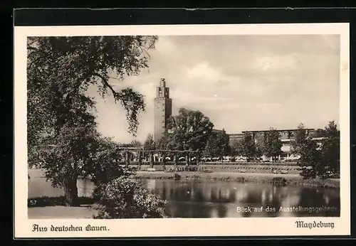
M167 122L172 116L172 99L169 97L169 87L164 78L159 82L155 97L155 131L153 139L157 141L167 129Z

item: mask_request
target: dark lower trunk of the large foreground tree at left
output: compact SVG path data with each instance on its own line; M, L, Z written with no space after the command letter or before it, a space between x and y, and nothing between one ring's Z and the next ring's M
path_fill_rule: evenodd
M77 180L78 175L75 172L68 172L63 177L63 189L66 206L75 207L79 205Z

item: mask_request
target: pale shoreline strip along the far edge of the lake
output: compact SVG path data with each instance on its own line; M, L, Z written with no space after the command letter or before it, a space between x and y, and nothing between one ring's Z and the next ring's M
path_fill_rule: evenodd
M340 179L320 178L303 179L298 174L276 174L276 173L235 173L235 172L214 172L203 173L197 171L179 171L180 178L185 180L211 180L211 181L232 181L239 183L275 183L290 186L306 186L320 188L340 188ZM137 171L135 178L152 179L174 179L174 173L164 171Z

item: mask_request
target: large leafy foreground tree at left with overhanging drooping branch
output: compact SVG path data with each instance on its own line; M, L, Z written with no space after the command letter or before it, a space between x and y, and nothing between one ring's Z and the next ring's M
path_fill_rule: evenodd
M120 102L135 135L137 114L145 110L140 93L115 90L110 79L123 81L148 67L155 36L31 37L27 42L28 163L46 170L53 185L62 186L67 205L76 205L78 172L93 162L85 148L100 138L95 102L88 88ZM51 148L43 147L52 144ZM95 145L95 144L93 144ZM42 147L40 147L42 146ZM92 159L92 161L90 161ZM80 167L80 168L79 168Z

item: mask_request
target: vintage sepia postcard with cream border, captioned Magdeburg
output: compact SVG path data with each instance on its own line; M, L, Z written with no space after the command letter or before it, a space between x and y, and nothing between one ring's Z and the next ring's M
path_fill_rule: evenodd
M348 23L15 26L15 237L350 235L349 53Z

